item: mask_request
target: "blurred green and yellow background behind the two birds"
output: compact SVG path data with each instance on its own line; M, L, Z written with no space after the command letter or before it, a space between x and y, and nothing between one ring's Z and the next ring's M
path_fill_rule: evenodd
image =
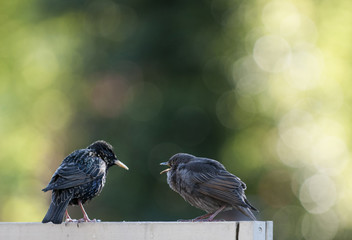
M63 158L104 139L104 221L202 214L160 162L221 161L276 239L352 234L352 2L0 3L0 220L41 221ZM77 208L71 209L80 218Z

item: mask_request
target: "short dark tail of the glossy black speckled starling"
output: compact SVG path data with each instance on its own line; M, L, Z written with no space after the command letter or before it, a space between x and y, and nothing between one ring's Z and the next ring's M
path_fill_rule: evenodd
M65 211L71 200L70 197L62 199L63 197L62 195L64 195L63 192L59 193L59 192L53 191L52 201L50 203L49 210L46 213L42 223L47 223L47 222L52 222L55 224L62 223L62 219L64 218Z

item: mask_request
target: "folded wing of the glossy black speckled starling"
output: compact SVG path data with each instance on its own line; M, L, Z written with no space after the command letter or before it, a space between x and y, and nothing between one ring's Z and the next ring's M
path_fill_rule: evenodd
M105 174L105 166L89 152L71 153L56 170L48 186L43 191L66 189L88 183Z

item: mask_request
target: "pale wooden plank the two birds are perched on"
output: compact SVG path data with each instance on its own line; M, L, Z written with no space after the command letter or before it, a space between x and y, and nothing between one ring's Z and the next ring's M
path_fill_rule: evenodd
M267 222L0 223L1 240L266 240ZM272 223L272 222L271 222ZM269 224L270 225L270 224ZM239 226L239 232L237 227ZM272 228L271 228L272 229ZM268 239L272 240L272 239Z

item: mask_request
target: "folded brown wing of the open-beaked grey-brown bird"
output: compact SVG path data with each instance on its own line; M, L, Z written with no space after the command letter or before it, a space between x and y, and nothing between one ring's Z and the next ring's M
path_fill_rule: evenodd
M245 183L226 171L222 165L195 162L187 167L190 170L189 176L196 182L195 191L232 206L249 207L244 195Z

